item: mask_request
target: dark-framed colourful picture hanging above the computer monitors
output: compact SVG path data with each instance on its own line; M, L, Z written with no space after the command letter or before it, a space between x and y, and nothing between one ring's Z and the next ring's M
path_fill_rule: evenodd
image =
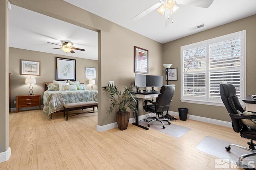
M148 50L134 46L134 72L148 74Z

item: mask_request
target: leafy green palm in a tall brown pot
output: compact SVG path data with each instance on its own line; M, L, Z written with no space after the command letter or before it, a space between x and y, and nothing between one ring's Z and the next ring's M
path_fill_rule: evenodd
M132 111L136 110L136 94L133 93L131 87L126 87L124 92L118 90L113 84L109 84L103 87L103 91L108 94L108 99L111 105L109 106L108 113L116 112L116 121L120 130L125 130L129 124L130 112L127 111L130 108Z

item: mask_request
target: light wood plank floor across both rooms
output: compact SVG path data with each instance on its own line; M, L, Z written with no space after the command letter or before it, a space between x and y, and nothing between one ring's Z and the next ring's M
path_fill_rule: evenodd
M176 138L128 125L96 130L97 113L69 117L54 113L48 120L42 110L10 113L11 156L1 170L207 170L214 156L196 149L206 136L246 145L231 128L193 120L172 122L191 128ZM166 125L168 126L168 125Z

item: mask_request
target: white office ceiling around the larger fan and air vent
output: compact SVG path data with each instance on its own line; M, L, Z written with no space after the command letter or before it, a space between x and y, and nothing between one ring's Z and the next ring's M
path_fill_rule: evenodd
M167 43L225 23L256 14L256 0L214 0L209 8L177 5L174 24L165 27L157 10L138 21L132 18L160 0L65 0L86 11L122 25L160 43ZM205 24L194 31L191 27Z

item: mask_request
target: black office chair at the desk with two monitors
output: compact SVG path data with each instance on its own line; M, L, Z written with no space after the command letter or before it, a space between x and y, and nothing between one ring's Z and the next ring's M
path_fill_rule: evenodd
M163 114L163 111L167 111L170 108L170 103L172 102L172 96L174 94L175 85L165 85L161 87L160 94L158 95L156 102L153 102L151 100L145 100L145 105L143 106L143 109L146 112L150 113L156 113L156 118L148 122L148 127L150 127L150 122L152 121L160 121L159 115ZM148 105L148 103L151 103ZM163 121L168 121L168 124L170 125L169 119L162 119ZM163 125L163 128L165 128L164 123L160 121Z

